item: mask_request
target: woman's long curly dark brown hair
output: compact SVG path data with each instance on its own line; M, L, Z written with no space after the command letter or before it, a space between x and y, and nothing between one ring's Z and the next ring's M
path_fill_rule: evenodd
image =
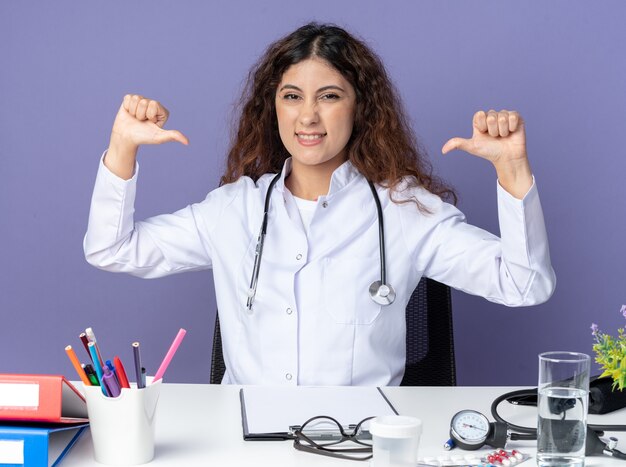
M329 63L356 92L354 126L347 145L354 167L368 180L392 190L407 180L409 186L422 186L456 203L454 190L433 174L380 58L364 42L332 24L300 27L271 44L252 68L220 184L241 176L256 181L282 170L290 154L278 132L276 91L290 66L312 57Z

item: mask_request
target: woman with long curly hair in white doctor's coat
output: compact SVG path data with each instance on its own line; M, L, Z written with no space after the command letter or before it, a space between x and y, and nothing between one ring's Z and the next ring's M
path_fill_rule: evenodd
M272 44L242 102L221 186L135 222L137 149L188 140L164 129L158 101L125 96L84 241L109 271L213 269L225 383L399 384L405 307L422 276L509 306L552 294L517 112L478 111L472 137L442 149L495 167L498 238L442 200L454 193L431 175L382 63L345 30L308 24Z

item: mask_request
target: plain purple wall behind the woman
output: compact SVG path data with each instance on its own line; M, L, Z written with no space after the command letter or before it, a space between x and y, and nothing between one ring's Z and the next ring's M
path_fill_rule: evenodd
M309 20L345 26L382 56L460 208L496 233L491 166L439 150L470 134L478 109L517 109L527 121L557 290L523 309L455 293L461 384L533 385L537 353L590 352L592 321L612 332L623 325L626 4L384 3L0 3L0 372L76 379L63 348L79 347L87 326L107 355L129 362L140 340L154 371L184 327L167 380L208 380L210 272L141 280L84 260L98 158L122 96L158 98L191 145L141 151L137 216L204 198L217 185L247 70L270 41Z

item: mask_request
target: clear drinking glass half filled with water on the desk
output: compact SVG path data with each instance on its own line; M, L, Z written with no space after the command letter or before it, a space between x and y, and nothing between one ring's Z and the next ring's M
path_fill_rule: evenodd
M585 465L589 368L589 355L583 353L539 354L539 467Z

